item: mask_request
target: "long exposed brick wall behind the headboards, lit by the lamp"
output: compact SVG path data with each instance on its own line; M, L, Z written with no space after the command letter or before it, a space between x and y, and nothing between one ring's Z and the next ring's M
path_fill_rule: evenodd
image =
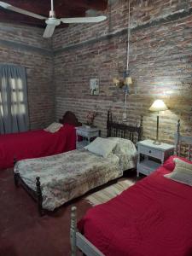
M114 2L114 1L113 1ZM156 115L148 108L156 98L170 110L160 116L160 139L172 142L177 119L192 136L192 0L131 1L131 59L134 84L127 116L138 123L144 116L144 137L155 137ZM106 11L99 25L59 29L53 38L55 52L55 111L61 117L73 110L84 122L90 110L99 113L95 123L105 135L107 111L121 117L125 94L112 84L126 67L127 1ZM100 79L99 96L90 96L90 79Z

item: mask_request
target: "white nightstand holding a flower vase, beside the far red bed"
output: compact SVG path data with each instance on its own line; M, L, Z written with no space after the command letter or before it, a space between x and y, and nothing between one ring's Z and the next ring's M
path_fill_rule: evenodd
M82 148L90 143L90 140L94 137L100 136L100 130L98 128L87 128L85 126L75 127L77 135L76 148ZM82 142L78 142L78 136L83 137ZM87 138L87 141L84 140Z

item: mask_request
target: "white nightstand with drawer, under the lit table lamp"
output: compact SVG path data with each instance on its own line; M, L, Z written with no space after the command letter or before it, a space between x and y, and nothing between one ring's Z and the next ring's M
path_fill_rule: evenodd
M143 158L141 158L143 154ZM139 173L149 175L174 154L174 146L166 143L155 145L152 140L137 143L137 177Z

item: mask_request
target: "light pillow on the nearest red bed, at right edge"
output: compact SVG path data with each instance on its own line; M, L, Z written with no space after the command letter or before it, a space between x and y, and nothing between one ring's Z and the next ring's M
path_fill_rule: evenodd
M166 174L165 177L192 186L192 164L178 158L175 158L174 162L176 166L173 172Z

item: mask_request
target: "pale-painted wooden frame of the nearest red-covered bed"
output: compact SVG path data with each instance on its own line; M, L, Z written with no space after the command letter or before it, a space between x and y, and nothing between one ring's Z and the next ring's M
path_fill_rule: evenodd
M192 153L192 137L182 136L180 134L180 120L177 121L177 132L175 135L175 148L176 154L180 156L181 145L185 144L188 147L187 158L191 160ZM70 229L70 240L71 240L71 255L77 255L77 249L79 248L82 253L87 256L104 256L88 239L86 239L77 229L77 208L72 207L71 212L71 229Z

